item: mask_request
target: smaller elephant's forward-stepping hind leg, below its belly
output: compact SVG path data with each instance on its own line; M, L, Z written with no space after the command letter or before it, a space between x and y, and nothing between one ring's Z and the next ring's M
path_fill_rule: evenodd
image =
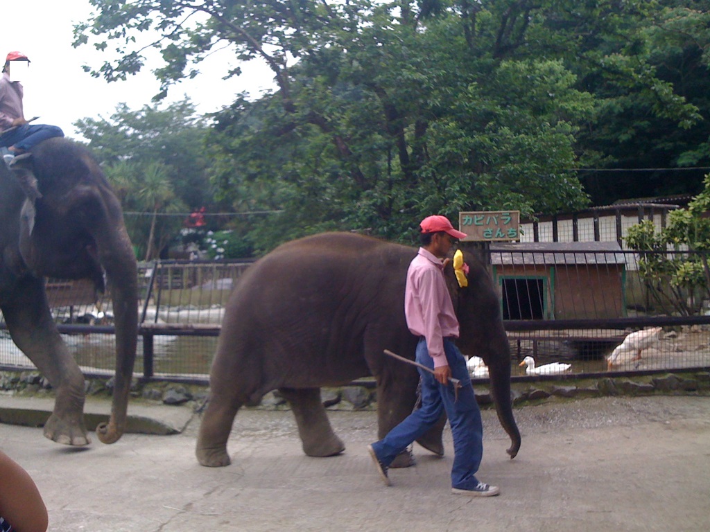
M344 443L330 426L320 399L320 388L279 388L278 391L291 405L304 453L323 457L338 455L345 450Z

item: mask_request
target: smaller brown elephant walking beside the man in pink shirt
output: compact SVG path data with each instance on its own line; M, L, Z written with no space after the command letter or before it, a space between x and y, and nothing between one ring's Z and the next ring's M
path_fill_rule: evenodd
M417 249L354 233L322 233L280 245L239 279L226 305L209 375L195 454L201 465L231 462L227 440L241 406L259 404L278 389L295 415L306 455L337 455L344 443L329 424L320 387L374 376L378 437L415 406L415 367L383 353L415 358L417 338L404 314L406 275ZM498 419L510 436L510 458L520 448L510 397L510 345L498 296L483 262L464 251L469 283L444 274L460 323L462 353L484 359ZM417 440L443 455L438 426ZM408 467L403 453L391 467Z

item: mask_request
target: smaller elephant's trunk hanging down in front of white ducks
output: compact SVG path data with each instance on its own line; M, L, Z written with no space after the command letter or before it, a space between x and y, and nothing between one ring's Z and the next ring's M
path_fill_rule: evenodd
M515 458L520 449L520 431L513 417L513 399L510 397L510 345L502 324L500 331L491 336L491 350L495 357L488 357L488 372L491 375L491 397L496 404L496 412L501 426L510 436L508 455ZM485 360L484 360L485 361Z

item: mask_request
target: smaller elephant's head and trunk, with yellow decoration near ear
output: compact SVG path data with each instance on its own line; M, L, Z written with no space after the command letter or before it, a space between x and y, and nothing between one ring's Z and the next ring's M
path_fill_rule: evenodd
M484 359L490 373L491 396L496 404L501 426L510 436L508 455L515 458L520 449L520 432L513 418L510 397L510 345L501 321L500 302L491 286L484 263L473 253L464 251L466 282L459 283L453 263L444 269L449 293L459 318L461 353ZM461 275L459 273L459 275ZM461 286L464 284L464 286ZM486 309L481 312L481 309Z

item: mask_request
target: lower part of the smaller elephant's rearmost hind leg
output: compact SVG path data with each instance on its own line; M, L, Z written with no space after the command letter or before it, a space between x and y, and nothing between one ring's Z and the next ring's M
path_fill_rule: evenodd
M235 400L235 394L220 394L212 391L207 409L202 414L200 433L197 436L195 455L197 461L206 467L224 467L231 460L226 452L231 426L242 403Z

